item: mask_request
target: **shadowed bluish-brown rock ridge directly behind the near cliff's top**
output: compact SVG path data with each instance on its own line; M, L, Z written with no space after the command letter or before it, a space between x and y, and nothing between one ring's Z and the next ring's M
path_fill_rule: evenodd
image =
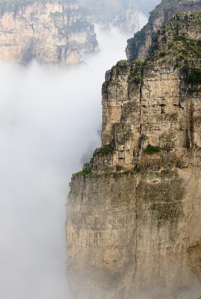
M126 55L129 61L144 60L151 53L157 30L178 11L199 10L200 0L162 0L161 4L151 11L148 23L128 39Z

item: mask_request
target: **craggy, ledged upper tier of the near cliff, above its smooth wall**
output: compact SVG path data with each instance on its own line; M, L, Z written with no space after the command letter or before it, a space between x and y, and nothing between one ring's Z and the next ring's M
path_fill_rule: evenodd
M146 60L107 71L102 148L79 174L201 163L200 65L201 11L186 11L157 31Z

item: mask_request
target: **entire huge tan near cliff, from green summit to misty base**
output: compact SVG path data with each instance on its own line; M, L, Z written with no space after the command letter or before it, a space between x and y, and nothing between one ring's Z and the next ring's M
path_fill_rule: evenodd
M67 203L75 299L201 295L201 12L161 27L102 86L102 147Z

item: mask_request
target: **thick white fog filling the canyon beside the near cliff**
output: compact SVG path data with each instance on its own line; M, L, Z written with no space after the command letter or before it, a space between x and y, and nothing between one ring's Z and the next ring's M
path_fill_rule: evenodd
M68 70L0 62L0 298L67 298L68 183L101 144L101 84L129 37L96 32L101 51Z

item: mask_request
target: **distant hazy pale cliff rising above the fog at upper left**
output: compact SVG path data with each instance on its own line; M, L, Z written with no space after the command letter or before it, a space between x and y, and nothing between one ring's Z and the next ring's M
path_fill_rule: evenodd
M71 64L98 43L91 18L76 1L0 2L0 59Z

